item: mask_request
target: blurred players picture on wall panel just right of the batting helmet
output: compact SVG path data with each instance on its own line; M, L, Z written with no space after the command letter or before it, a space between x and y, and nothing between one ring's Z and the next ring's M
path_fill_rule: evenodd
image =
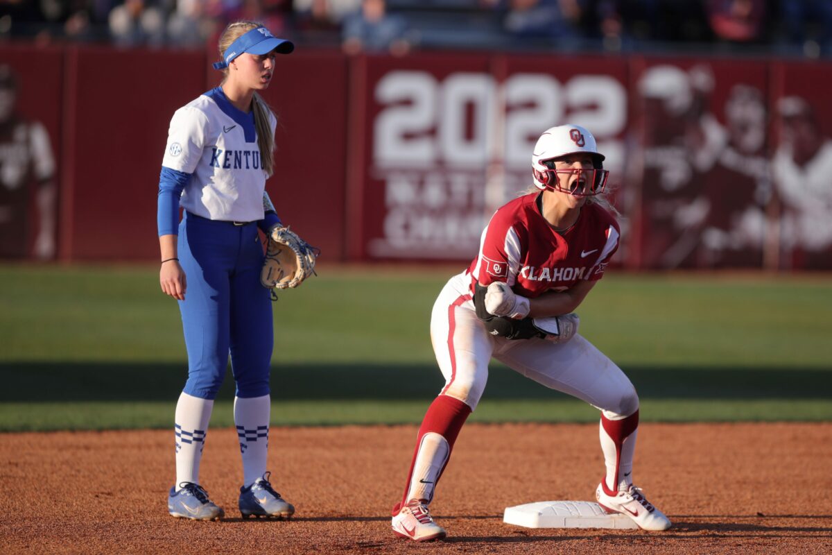
M646 62L636 95L640 267L763 264L767 160L766 67L754 62Z

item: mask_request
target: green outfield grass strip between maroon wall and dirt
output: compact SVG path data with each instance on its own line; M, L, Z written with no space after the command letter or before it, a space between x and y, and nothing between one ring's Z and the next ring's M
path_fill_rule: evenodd
M428 320L456 268L320 268L275 303L274 424L416 423L442 387ZM156 267L0 265L0 430L165 428L186 377ZM630 376L641 418L832 419L828 275L611 272L581 331ZM232 424L230 376L212 425ZM590 422L493 364L473 421Z

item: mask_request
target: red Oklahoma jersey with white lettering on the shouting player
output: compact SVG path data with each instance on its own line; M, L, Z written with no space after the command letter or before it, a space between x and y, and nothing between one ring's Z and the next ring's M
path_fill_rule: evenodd
M468 266L470 290L479 281L504 281L533 299L567 290L580 280L600 280L618 249L621 230L602 206L587 202L575 225L558 233L537 208L537 195L518 197L494 213Z

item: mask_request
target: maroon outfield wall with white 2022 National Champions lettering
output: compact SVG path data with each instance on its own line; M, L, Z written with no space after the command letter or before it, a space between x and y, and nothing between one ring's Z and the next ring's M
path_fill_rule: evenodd
M59 161L59 259L155 260L167 125L217 83L209 57L3 45L2 63ZM832 267L832 64L331 51L279 64L266 187L324 260L470 259L493 209L529 185L539 133L574 122L612 171L619 264Z

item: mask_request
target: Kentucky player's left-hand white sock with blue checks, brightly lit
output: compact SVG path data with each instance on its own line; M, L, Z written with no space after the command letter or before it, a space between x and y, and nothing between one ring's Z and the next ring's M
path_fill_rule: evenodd
M214 401L182 393L176 402L176 488L182 482L200 483L200 461Z

